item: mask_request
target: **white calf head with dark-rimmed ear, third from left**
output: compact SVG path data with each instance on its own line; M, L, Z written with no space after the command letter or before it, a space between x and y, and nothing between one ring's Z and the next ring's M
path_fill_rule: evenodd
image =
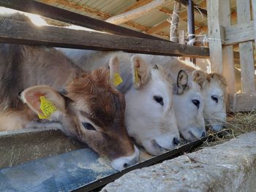
M189 77L187 72L178 72L177 82L173 85L173 101L178 131L181 136L191 142L206 136L203 119L203 96L201 85L205 75L195 70Z

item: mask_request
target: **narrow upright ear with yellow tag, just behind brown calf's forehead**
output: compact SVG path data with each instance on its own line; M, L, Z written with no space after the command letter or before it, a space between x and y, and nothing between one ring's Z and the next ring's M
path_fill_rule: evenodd
M116 88L118 85L121 85L123 79L120 75L120 67L119 67L119 60L117 56L113 56L110 58L109 61L109 69L110 69L110 85L113 88Z

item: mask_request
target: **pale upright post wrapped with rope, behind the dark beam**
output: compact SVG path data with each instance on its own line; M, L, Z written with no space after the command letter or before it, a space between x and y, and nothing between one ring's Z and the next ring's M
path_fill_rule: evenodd
M170 41L178 42L178 22L179 12L181 11L181 3L175 2L173 8L173 15L170 22Z

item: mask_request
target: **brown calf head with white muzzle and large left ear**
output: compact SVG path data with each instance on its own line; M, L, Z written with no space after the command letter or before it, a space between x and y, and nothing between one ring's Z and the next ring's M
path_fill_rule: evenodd
M124 169L138 161L138 149L125 127L124 96L113 88L111 77L111 71L99 69L69 82L64 94L38 85L27 88L21 97L31 110L42 115L40 98L44 96L56 107L49 120L58 120L65 134L110 158L114 169Z

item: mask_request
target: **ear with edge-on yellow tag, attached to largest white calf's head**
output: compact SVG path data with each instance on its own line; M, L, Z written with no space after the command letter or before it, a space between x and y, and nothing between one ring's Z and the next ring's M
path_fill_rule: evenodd
M139 55L132 56L133 85L142 88L150 78L149 65Z

